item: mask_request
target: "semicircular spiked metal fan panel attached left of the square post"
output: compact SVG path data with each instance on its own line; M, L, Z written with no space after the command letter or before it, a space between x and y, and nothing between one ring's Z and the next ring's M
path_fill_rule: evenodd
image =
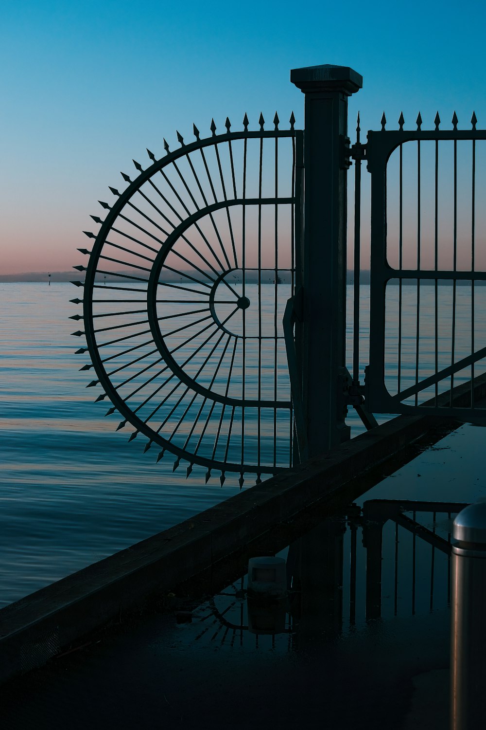
M112 204L85 271L83 319L96 372L122 421L211 470L275 474L293 458L283 310L295 290L294 204L302 132L231 131L186 143L138 172ZM297 261L298 264L298 261ZM270 272L270 277L269 277ZM273 282L271 288L267 280ZM288 284L283 285L282 279ZM82 285L77 282L77 285ZM264 287L264 285L266 285ZM264 290L264 291L263 291ZM74 300L80 301L80 300ZM74 319L80 319L76 315ZM287 338L288 339L288 338ZM90 369L85 365L82 369Z

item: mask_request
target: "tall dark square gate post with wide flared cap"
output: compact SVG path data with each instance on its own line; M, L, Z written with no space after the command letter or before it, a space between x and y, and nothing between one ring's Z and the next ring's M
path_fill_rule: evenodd
M293 69L290 80L305 94L302 403L309 456L316 456L350 437L340 388L346 347L344 153L348 96L363 79L348 66L324 65Z

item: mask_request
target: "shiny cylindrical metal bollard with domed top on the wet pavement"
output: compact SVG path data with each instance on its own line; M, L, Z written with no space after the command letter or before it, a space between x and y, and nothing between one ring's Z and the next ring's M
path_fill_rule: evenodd
M452 526L451 728L486 723L486 503Z

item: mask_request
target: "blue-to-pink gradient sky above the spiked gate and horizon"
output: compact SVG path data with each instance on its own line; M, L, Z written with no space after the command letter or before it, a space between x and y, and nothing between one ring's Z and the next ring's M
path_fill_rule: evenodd
M302 9L302 10L301 10ZM256 127L303 96L289 70L352 66L364 88L350 128L379 128L385 110L423 128L437 109L486 125L484 2L259 4L155 0L1 0L0 273L62 271L82 260L98 199L145 148L192 122L209 134L227 115ZM283 125L282 125L283 126Z

